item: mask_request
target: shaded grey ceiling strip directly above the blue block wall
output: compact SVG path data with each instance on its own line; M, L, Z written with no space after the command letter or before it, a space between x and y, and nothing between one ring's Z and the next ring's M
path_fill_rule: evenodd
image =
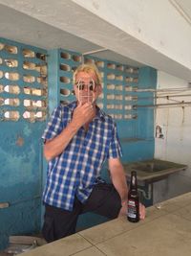
M142 66L140 62L123 57L102 48L79 36L57 29L31 16L0 4L0 36L30 44L43 49L63 48L79 53L92 53L97 58L106 58L132 66ZM100 52L99 52L100 50ZM104 50L104 51L103 51Z

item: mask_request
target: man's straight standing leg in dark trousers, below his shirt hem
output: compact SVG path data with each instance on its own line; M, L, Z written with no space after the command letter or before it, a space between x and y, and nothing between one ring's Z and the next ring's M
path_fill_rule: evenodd
M50 243L74 234L76 221L80 212L81 203L76 198L72 212L46 204L42 228L42 234L45 240Z

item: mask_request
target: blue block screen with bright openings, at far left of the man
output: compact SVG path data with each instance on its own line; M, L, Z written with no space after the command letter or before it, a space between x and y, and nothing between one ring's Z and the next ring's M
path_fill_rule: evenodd
M47 116L47 52L0 38L0 121Z

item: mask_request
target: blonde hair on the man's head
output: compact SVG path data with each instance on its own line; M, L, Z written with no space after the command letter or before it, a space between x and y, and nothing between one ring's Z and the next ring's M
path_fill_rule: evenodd
M88 74L91 74L91 73L94 73L96 75L96 83L97 84L100 84L101 85L101 76L100 76L100 73L96 67L96 65L94 64L81 64L79 65L75 71L74 71L74 75L73 75L73 81L74 83L76 82L76 75L79 73L79 72L86 72Z

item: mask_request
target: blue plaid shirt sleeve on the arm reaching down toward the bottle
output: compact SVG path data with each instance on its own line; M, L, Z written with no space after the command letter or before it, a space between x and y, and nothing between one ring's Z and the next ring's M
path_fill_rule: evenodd
M118 134L117 134L117 125L116 123L114 124L114 128L112 131L112 140L110 143L110 148L108 152L107 158L119 158L122 156L122 149L120 146L120 142L118 139Z

